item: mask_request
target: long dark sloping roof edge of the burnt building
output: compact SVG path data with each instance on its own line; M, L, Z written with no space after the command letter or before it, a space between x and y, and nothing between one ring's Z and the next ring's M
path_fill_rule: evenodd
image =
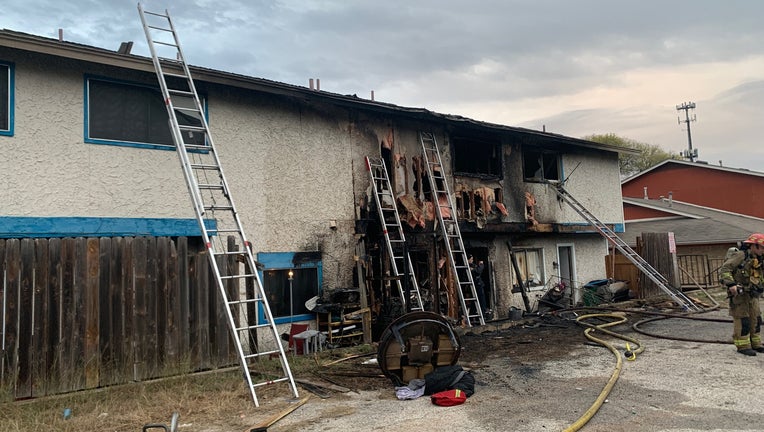
M35 36L28 33L22 33L8 29L0 29L0 46L6 46L23 51L36 52L45 55L81 60L90 63L104 64L124 69L155 73L153 62L149 57L143 57L134 54L120 54L117 51L112 51L104 48L97 48L90 45L68 41L59 41L58 39ZM244 88L265 93L304 98L308 100L322 99L339 106L363 109L367 111L384 112L388 114L403 114L419 119L437 121L457 126L467 125L482 129L492 129L496 132L534 135L539 138L547 138L555 141L565 141L568 144L574 146L602 151L615 153L638 153L635 150L626 147L620 147L611 144L601 144L580 138L573 138L565 135L542 132L533 129L488 123L467 117L462 117L459 115L441 114L425 108L402 107L390 103L363 99L357 96L341 95L338 93L331 93L323 90L313 90L307 87L281 83L278 81L271 81L264 78L255 78L231 72L223 72L200 66L189 65L189 69L191 70L194 79L230 87Z

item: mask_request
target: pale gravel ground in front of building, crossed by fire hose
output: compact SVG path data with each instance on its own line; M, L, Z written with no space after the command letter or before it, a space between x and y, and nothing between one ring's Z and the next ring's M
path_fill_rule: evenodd
M726 310L697 316L727 319ZM639 319L632 315L627 324L609 328L638 339L645 350L635 361L623 361L607 400L581 430L764 430L764 355L739 355L731 343L646 336L631 328ZM683 319L643 328L707 341L732 333L731 322ZM537 320L476 331L482 333L462 336L460 364L473 370L477 382L463 405L439 407L428 397L400 401L388 383L326 399L313 396L268 430L564 430L592 406L616 368L613 353L592 344L583 327L570 322ZM623 351L623 341L609 340Z

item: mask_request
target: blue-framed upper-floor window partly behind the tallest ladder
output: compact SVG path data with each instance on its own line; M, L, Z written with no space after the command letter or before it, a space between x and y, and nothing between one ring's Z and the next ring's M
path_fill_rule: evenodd
M177 88L177 87L173 87ZM159 87L86 78L85 141L98 144L174 148ZM178 123L202 126L192 97L173 96ZM203 145L204 134L184 132L186 144Z

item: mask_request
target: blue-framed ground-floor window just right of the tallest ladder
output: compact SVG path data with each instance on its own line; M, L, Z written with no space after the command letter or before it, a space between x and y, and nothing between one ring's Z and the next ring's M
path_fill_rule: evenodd
M305 302L321 295L322 265L318 252L261 252L257 260L263 289L276 324L313 319ZM291 272L291 280L290 280ZM264 323L264 314L260 314Z

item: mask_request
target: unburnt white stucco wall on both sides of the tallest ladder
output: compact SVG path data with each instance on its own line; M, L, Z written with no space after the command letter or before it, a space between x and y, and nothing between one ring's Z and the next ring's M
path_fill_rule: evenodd
M0 137L2 216L194 217L174 151L84 142L83 71L150 84L154 75L0 54L16 67L15 134ZM347 113L199 88L254 250L320 250L324 287L349 286L355 197L348 185L363 172L362 155L378 153L376 137L356 132L342 120Z

